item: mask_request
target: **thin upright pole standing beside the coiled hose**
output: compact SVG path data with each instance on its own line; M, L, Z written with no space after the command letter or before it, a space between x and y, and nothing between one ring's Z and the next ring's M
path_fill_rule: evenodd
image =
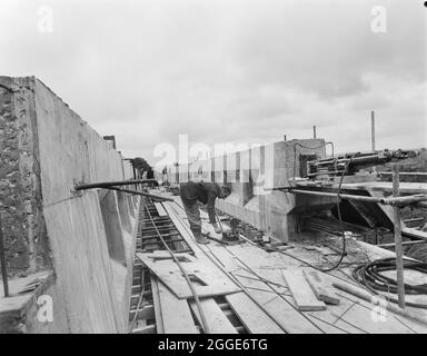
M399 196L399 166L393 166L393 196ZM395 225L395 253L396 253L396 273L397 273L397 297L399 307L405 309L405 284L404 284L404 248L401 246L401 217L400 207L393 206Z

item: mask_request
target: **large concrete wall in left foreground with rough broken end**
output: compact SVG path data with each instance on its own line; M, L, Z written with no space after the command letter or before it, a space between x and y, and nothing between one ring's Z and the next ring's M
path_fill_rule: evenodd
M36 78L1 77L0 83L9 271L54 273L46 291L53 320L38 322L37 305L27 306L17 332L126 333L138 204L116 191L72 190L79 182L130 179L130 169Z

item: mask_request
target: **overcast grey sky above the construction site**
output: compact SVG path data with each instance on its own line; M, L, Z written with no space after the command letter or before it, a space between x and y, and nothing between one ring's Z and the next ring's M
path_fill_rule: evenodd
M0 75L38 77L150 162L179 134L261 144L314 125L337 151L369 150L370 110L377 148L415 148L426 19L421 0L1 0Z

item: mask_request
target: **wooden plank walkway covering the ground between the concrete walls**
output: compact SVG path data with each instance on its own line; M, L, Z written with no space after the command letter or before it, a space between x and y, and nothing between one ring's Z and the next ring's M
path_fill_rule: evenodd
M346 263L354 261L351 256L344 260L344 267L326 274L315 271L302 261L316 265L334 260L336 253L327 247L305 245L304 241L292 244L286 249L287 255L267 253L248 243L225 246L211 241L206 246L199 245L193 240L180 205L177 197L176 204L163 202L157 208L159 215L167 214L171 218L195 251L193 255L181 254L180 260L196 286L210 333L427 333L427 326L423 324L381 310L332 286L337 281L357 286L349 277L349 267L346 267ZM203 229L220 238L209 224L203 222ZM389 254L376 247L370 250L367 244L360 246L366 255ZM170 258L156 259L153 255L137 254L153 276L151 287L157 333L200 333L198 308L177 265ZM305 275L314 276L318 289L339 300L339 304L314 299L308 291L308 279L302 278ZM426 296L423 297L427 303ZM426 314L426 310L418 312Z

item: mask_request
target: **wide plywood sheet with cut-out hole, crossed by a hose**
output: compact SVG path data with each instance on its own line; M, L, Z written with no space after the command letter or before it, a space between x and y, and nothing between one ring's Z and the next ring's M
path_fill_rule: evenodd
M189 255L188 255L189 256ZM186 278L181 270L171 259L153 260L148 254L137 253L137 257L180 299L193 297ZM190 259L190 258L189 258ZM190 259L191 260L191 259ZM193 259L192 259L193 260ZM240 291L221 270L215 265L209 266L208 260L197 260L186 263L181 266L193 280L199 280L200 284L195 284L196 293L199 297L211 297Z

